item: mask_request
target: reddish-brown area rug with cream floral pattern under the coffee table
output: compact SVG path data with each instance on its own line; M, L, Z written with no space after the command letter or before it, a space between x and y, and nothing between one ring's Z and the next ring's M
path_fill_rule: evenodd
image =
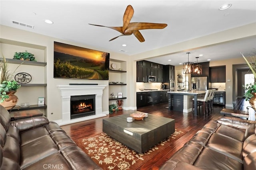
M103 132L77 143L104 170L136 170L185 133L175 129L172 135L143 154L129 149Z

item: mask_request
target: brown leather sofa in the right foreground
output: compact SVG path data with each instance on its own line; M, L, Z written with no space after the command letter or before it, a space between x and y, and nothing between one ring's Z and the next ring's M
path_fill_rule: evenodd
M255 170L256 121L209 121L160 170Z

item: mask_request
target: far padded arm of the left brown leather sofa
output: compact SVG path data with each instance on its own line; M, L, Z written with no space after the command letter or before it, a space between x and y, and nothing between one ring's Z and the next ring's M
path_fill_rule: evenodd
M49 120L45 116L30 117L26 119L11 121L11 125L17 127L20 133L42 125L46 125L48 123Z

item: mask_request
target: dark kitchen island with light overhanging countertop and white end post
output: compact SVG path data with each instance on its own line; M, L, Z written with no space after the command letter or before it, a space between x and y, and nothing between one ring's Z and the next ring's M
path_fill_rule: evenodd
M192 98L194 98L194 108L197 108L197 95L205 94L206 91L174 91L168 93L169 110L182 111L188 113L193 109ZM197 109L194 110L197 116Z

